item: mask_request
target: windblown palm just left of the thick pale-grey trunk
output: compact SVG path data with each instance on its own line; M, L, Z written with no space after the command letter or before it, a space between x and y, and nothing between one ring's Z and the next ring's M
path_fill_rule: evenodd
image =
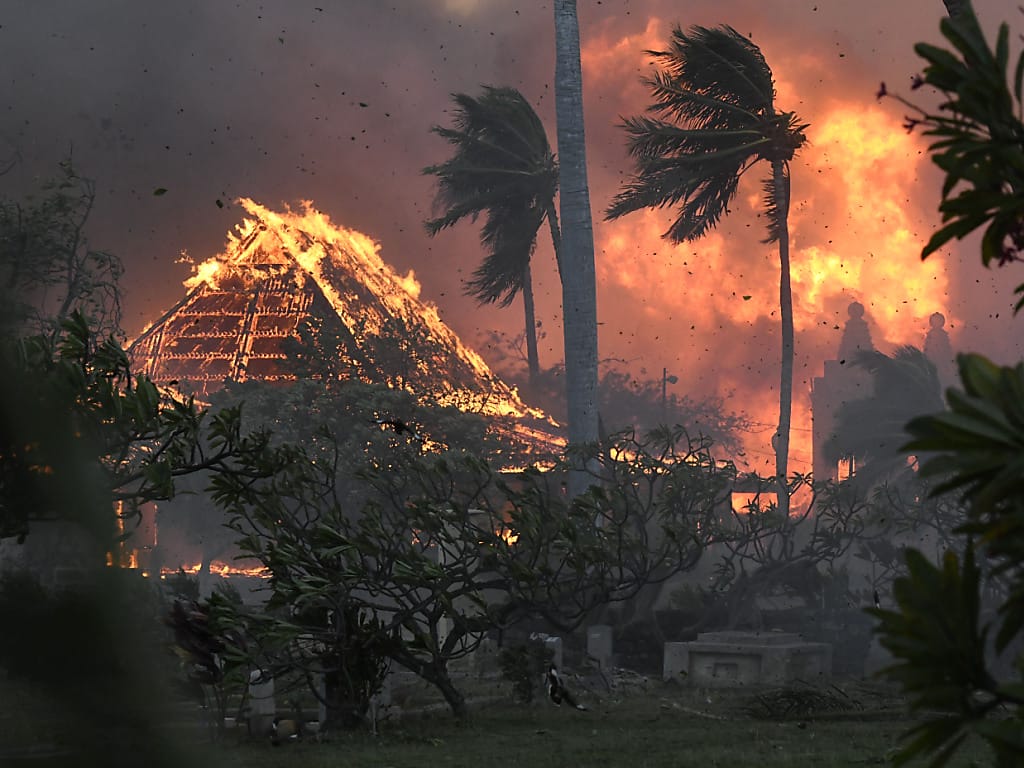
M467 216L475 221L486 214L480 228L485 255L466 293L480 305L503 307L522 293L532 382L540 365L529 262L545 219L558 258L558 164L541 119L515 88L483 86L479 98L465 93L452 98L454 127L432 130L455 146L455 155L423 170L437 176L434 207L441 212L426 222L427 232L432 237Z

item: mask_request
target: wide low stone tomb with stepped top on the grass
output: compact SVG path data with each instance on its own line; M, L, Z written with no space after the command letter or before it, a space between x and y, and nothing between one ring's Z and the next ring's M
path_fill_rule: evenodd
M783 685L831 677L831 645L791 632L708 632L666 643L663 679L706 688Z

